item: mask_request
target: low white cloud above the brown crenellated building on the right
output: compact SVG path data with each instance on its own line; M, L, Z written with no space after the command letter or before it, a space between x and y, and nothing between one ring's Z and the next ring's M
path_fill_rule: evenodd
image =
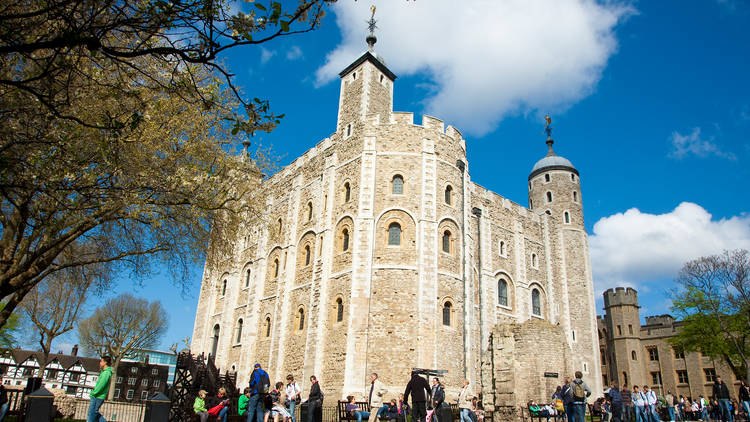
M647 280L674 279L691 259L750 249L750 215L716 220L690 202L666 214L631 208L597 221L589 247L597 297L616 286L643 289Z

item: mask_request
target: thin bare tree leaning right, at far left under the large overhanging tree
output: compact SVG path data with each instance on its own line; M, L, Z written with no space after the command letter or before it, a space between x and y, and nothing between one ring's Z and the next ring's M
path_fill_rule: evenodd
M63 252L71 253L82 251L68 248ZM33 325L42 352L38 376L44 376L52 342L75 328L89 288L96 284L102 289L110 278L109 266L102 263L68 267L46 277L21 302L22 315Z

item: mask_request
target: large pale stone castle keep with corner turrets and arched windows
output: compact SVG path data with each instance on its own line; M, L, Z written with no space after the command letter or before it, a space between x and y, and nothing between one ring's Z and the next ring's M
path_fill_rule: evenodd
M314 374L327 402L371 372L395 397L415 367L486 406L547 400L576 370L601 392L578 171L548 138L528 208L474 183L457 129L392 110L368 41L339 75L336 132L263 182L269 223L205 268L193 353L239 386L255 362L305 391Z

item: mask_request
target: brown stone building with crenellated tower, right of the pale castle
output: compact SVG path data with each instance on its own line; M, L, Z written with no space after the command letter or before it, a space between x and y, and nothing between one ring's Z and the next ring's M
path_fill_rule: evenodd
M647 316L641 325L638 292L618 287L604 292L603 316L597 318L602 382L644 384L660 394L711 396L716 376L737 396L740 381L722 360L684 352L669 342L682 323L671 315Z

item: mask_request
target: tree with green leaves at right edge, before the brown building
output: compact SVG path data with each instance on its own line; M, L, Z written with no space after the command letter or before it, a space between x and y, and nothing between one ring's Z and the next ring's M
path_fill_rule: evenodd
M683 326L672 344L721 359L739 379L750 379L748 251L724 251L689 261L677 283L672 309Z

